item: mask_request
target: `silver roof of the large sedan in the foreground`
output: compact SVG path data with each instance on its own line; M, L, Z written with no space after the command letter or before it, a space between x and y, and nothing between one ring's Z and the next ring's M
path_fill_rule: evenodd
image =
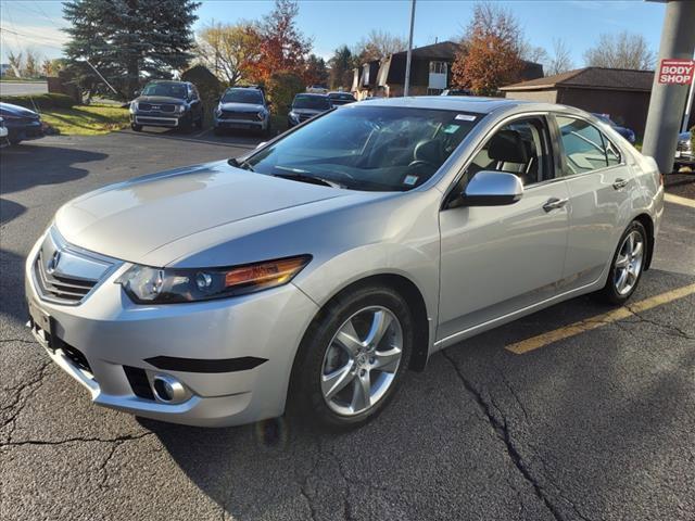
M440 109L445 111L488 114L497 109L511 109L532 102L507 98L481 98L477 96L416 96L408 98L375 98L369 106L403 106L410 109Z

